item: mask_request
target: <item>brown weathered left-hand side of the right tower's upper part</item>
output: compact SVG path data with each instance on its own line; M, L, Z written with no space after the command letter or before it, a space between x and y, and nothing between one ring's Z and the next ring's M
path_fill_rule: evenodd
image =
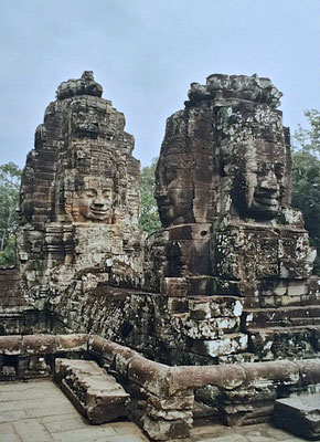
M207 108L173 114L156 170L156 199L164 227L213 220L218 162Z

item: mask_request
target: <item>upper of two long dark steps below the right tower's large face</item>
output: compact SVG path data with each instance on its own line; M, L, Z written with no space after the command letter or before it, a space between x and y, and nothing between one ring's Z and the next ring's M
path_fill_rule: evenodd
M247 328L319 325L320 306L245 308L244 318Z

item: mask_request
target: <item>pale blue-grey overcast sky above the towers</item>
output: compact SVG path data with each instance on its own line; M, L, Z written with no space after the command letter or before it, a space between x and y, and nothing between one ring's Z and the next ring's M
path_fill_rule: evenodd
M0 0L0 164L24 166L57 85L94 71L135 157L159 154L192 82L257 73L291 131L319 106L319 0Z

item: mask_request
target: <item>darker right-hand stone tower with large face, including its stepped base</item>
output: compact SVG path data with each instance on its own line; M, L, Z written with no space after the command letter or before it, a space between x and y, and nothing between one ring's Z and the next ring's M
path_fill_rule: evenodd
M170 332L159 328L161 338L172 355L189 351L188 364L252 360L253 349L263 359L318 351L312 333L299 335L298 349L295 326L306 320L288 311L313 304L314 251L290 207L280 97L268 78L213 74L205 85L192 83L185 109L168 118L156 172L163 228L148 240L156 264L146 281L168 299ZM238 299L237 314L216 316L221 299Z

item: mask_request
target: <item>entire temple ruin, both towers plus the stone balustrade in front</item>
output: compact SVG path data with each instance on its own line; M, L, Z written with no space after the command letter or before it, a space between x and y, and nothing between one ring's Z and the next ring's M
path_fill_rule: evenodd
M83 413L128 414L152 440L188 436L199 407L247 424L270 419L277 399L316 393L320 282L290 206L281 93L257 75L191 84L167 120L162 228L149 238L134 137L102 94L92 72L63 82L36 128L17 265L0 269L0 379L54 373L77 401L87 370L107 369L119 407L82 402Z

